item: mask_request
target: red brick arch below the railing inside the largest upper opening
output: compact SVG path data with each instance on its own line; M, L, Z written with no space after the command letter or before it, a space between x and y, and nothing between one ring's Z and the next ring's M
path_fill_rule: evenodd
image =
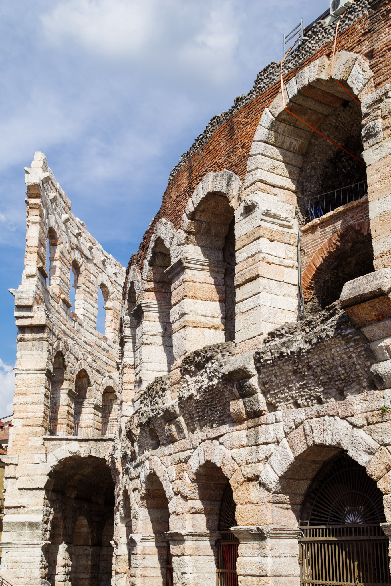
M305 302L311 300L322 272L324 272L327 267L336 260L339 254L346 251L346 249L351 247L353 243L357 244L366 241L367 239L365 237L369 235L369 220L361 220L361 222L348 224L342 227L340 230L332 234L324 244L322 244L311 258L302 274L302 289ZM359 276L361 275L346 277L346 281ZM333 301L335 300L333 299Z

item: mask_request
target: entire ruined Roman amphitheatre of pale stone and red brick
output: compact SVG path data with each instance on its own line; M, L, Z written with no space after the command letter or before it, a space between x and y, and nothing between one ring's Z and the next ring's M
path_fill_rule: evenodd
M334 55L319 21L284 94L272 63L212 118L126 269L35 154L11 584L391 584L390 13L352 4Z

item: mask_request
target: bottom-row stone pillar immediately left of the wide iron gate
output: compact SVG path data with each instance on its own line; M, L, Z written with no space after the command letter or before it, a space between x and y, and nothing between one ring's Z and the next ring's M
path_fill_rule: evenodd
M236 571L241 586L300 586L297 527L231 527L239 539Z

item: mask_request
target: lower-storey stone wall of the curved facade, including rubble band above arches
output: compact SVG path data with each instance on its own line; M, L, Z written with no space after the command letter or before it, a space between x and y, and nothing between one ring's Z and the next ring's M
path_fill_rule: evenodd
M376 279L375 272L352 282L349 291L368 285L358 300L344 292L344 305L365 311L371 293L382 303L389 272L382 291ZM214 583L226 482L236 503L239 580L298 584L301 506L317 471L341 451L378 482L389 523L390 355L385 340L368 342L388 321L362 328L336 302L316 323L271 332L256 352L223 343L189 354L174 401L168 377L156 379L121 444L118 493L128 508L116 521L118 584L161 584L164 540L174 584ZM118 472L114 451L111 465Z

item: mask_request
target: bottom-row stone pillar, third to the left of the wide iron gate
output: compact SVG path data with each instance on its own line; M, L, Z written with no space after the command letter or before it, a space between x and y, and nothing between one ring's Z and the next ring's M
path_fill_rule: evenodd
M167 540L164 533L132 533L130 586L164 586Z

